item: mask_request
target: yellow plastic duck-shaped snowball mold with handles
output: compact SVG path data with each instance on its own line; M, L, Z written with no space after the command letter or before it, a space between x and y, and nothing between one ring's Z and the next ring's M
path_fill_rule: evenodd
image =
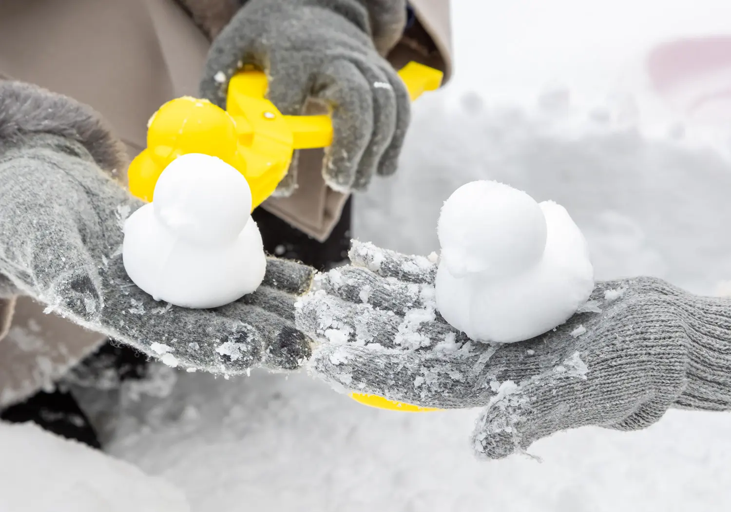
M438 89L442 72L409 62L398 73L412 100ZM330 116L284 116L265 99L263 72L244 69L229 83L226 110L205 99L181 97L165 103L148 123L147 148L127 170L129 191L151 201L157 178L181 154L219 157L251 187L252 209L269 197L287 174L292 151L325 148L333 141Z

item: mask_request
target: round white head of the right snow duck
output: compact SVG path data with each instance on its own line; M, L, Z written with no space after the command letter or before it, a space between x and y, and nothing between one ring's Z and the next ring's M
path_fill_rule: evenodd
M504 276L537 263L546 223L526 192L496 181L472 181L444 202L437 234L452 275Z

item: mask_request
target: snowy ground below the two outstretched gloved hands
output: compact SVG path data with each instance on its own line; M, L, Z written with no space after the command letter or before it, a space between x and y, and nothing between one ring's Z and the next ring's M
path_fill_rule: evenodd
M363 407L296 375L184 374L132 411L112 453L184 489L193 511L724 511L731 418L671 411L643 432L580 429L534 445L545 462L474 459L476 413Z

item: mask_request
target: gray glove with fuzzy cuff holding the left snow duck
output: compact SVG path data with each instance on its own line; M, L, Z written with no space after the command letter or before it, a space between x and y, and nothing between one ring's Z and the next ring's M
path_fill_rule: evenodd
M169 364L239 373L310 354L294 302L314 271L268 260L256 293L218 309L166 306L124 270L124 219L142 203L113 178L123 148L93 110L0 82L0 274L25 295ZM106 172L105 172L106 171Z

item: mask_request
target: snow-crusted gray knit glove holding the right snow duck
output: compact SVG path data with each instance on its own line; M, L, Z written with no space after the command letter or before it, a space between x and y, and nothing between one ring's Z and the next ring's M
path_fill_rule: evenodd
M642 429L669 407L731 410L729 298L651 278L599 282L564 325L491 345L435 312L436 258L357 243L350 257L298 303L298 327L322 340L312 371L400 402L484 407L473 443L485 456L579 426Z

